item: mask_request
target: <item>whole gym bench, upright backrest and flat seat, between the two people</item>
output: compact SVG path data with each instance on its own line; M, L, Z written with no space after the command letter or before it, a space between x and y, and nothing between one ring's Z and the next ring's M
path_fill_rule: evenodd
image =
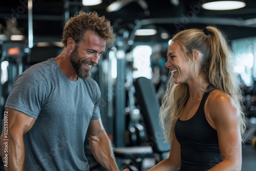
M116 158L131 159L131 163L128 164L131 170L140 170L145 158L155 158L156 163L167 158L170 144L164 143L163 130L159 125L160 104L152 81L139 77L133 84L146 128L145 144L148 145L114 148L114 154Z

